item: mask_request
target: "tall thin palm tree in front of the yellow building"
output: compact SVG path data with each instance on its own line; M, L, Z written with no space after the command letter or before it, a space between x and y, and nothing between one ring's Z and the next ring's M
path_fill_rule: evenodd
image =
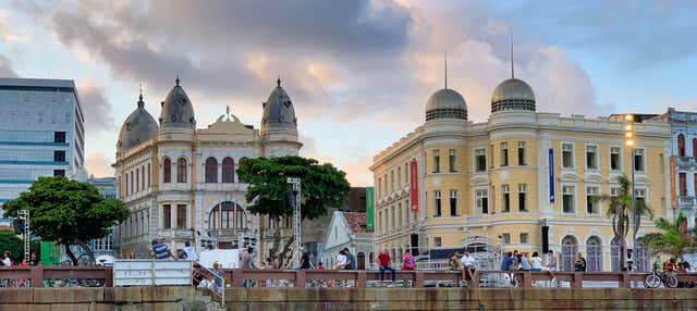
M620 247L619 265L621 270L624 270L624 259L627 252L626 237L629 233L629 221L632 220L632 183L627 176L622 175L617 177L620 183L620 189L616 196L602 195L600 201L608 204L608 217L612 219L612 233L614 234L613 240L617 241ZM649 215L653 219L653 213L646 204L644 200L634 200L634 208L639 215ZM637 231L641 226L641 217L636 220ZM636 246L635 246L636 247ZM636 259L634 259L636 261Z

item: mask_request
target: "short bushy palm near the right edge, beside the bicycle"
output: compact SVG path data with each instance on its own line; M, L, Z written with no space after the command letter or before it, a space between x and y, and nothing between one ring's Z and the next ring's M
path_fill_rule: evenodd
M687 220L682 213L672 223L663 217L658 219L656 227L661 232L647 234L641 237L641 241L649 246L653 254L665 253L683 261L684 250L695 246L697 229L687 229Z

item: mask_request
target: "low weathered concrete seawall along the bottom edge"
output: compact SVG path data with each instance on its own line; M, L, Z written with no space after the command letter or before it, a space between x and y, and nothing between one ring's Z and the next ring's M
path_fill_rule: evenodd
M0 311L203 311L191 287L2 288ZM697 289L249 288L227 310L697 310Z

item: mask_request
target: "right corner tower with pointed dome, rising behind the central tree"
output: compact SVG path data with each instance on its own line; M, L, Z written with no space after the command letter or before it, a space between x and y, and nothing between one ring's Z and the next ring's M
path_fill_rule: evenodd
M262 105L260 134L264 156L297 156L303 146L297 141L297 117L291 98L281 87L280 77Z

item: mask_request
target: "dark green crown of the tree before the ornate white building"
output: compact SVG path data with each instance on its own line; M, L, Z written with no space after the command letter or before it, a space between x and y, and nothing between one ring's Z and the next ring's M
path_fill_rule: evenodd
M313 220L327 213L326 208L341 208L351 189L346 174L332 164L302 157L243 159L237 174L249 184L247 209L255 214L283 216L283 194L291 189L289 177L302 179L302 216Z

